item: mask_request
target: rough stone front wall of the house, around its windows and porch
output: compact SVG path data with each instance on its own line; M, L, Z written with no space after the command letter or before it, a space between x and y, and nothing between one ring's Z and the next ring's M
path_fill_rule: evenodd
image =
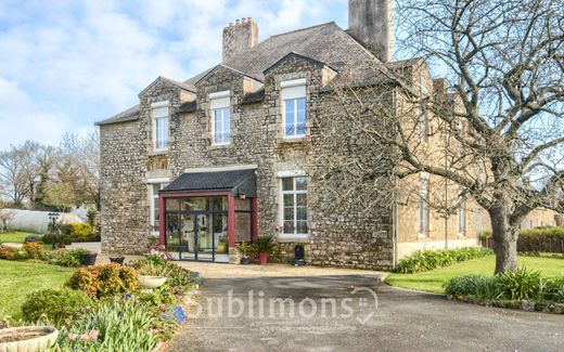
M320 153L328 145L315 135L316 123L322 123L331 107L322 92L324 82L332 76L326 66L297 55L271 67L264 82L261 102L242 104L251 93L248 79L227 67L218 67L196 83L196 110L172 114L170 118L170 147L166 153L152 152L151 103L168 100L176 112L182 103L177 87L157 82L140 95L140 119L128 123L103 126L102 159L105 184L123 180L124 190L103 187L104 250L140 252L146 249L150 236L148 174L169 174L174 180L185 169L256 165L258 198L258 232L280 237L280 179L278 172L304 170L308 172L311 153ZM281 82L306 78L307 132L306 136L289 141L283 139L281 110ZM231 144L213 145L209 93L231 91ZM333 113L337 113L333 110ZM167 168L163 170L162 168ZM119 188L120 190L120 188ZM308 182L308 199L322 196L324 190L315 178ZM393 237L390 208L382 209L369 218L362 213L362 204L350 199L343 212L328 213L308 207L309 233L307 239L280 237L278 258L287 261L294 257L294 246L304 245L306 261L310 264L389 269L393 265ZM111 222L127 221L117 229Z

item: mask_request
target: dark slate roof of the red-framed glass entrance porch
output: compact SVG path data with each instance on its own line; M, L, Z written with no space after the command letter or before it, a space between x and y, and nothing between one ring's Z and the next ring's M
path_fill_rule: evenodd
M182 173L162 193L230 191L234 196L255 197L257 177L254 169Z

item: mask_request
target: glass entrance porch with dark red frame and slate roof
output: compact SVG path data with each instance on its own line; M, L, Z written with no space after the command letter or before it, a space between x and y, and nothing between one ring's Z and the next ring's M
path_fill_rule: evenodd
M254 169L185 172L158 192L159 244L176 260L229 262L257 235Z

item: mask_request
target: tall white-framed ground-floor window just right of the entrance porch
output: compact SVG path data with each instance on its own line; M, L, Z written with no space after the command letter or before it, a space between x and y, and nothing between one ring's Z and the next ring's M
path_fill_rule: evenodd
M282 236L307 237L307 178L303 174L282 175L280 190Z

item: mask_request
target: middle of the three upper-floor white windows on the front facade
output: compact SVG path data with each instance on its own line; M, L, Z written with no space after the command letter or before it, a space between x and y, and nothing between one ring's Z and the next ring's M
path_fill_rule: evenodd
M230 91L209 94L211 106L211 144L231 143Z

